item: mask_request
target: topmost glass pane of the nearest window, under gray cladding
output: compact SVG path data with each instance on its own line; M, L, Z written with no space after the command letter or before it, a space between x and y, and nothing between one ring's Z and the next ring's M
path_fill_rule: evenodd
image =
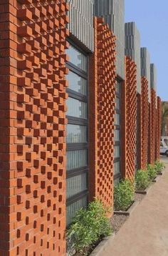
M67 50L69 56L69 61L74 64L79 69L82 69L84 72L87 72L87 56L82 54L74 46L70 45Z

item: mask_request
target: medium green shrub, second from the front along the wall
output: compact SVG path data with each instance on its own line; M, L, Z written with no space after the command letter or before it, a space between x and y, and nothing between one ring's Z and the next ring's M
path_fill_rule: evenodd
M129 179L123 179L115 186L114 205L116 211L125 211L133 201L135 192L134 182Z

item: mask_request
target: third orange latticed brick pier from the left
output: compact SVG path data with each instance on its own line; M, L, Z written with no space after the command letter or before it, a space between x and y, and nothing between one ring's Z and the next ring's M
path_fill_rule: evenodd
M137 67L130 57L125 58L125 84L122 84L121 106L121 169L122 177L135 177L137 122Z

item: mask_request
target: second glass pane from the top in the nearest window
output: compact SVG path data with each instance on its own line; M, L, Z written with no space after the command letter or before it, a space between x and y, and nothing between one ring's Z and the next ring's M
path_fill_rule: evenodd
M69 89L87 96L87 80L71 71L66 76L69 82Z

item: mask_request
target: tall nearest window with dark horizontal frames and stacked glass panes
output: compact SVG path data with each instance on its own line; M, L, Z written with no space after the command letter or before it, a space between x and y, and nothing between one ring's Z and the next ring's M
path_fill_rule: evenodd
M88 205L88 57L73 44L67 51L67 225Z

